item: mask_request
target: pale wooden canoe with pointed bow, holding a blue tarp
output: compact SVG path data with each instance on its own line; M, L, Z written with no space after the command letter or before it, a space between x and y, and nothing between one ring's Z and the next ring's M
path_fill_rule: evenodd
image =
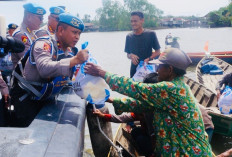
M206 59L212 60L208 62L208 64L213 64L213 65L220 67L223 70L223 74L218 74L218 75L202 74L201 67L202 67L203 62ZM214 93L216 93L215 88L216 88L218 81L221 80L224 75L231 73L231 72L232 72L232 65L214 56L203 57L196 67L197 81L205 85L207 88L212 90Z

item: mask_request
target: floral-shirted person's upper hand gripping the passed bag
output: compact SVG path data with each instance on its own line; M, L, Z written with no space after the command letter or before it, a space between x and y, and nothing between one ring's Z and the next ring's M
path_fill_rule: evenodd
M93 63L86 63L84 69L85 69L85 73L93 75L93 76L104 77L106 74L105 70L103 70L100 66L93 64Z

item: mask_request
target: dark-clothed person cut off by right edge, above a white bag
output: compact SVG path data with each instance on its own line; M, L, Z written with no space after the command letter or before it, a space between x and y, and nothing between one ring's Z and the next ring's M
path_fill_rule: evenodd
M232 87L232 73L226 74L218 83L216 86L217 91L217 98L219 99L221 96L221 93L225 89L226 86Z

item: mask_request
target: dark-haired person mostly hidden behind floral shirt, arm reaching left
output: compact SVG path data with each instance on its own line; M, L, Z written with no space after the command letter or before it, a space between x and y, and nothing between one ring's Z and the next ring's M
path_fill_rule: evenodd
M157 73L150 73L145 76L144 83L157 83L158 77ZM110 98L108 102L113 103L113 100ZM135 114L133 112L123 113L121 115L115 114L104 114L100 110L96 110L93 112L95 115L104 118L106 121L114 122L114 123L132 123L131 125L127 125L126 129L129 133L131 133L133 139L135 140L137 146L142 155L147 157L154 155L153 148L155 147L155 137L154 137L154 129L152 126L153 120L153 112L139 113ZM141 127L136 127L133 123L134 121L140 121Z

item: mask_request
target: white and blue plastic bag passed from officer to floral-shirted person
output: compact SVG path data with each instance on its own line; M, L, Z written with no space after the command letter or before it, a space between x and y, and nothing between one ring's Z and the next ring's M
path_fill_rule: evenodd
M87 62L97 64L97 61L91 55L89 55ZM86 74L84 72L85 65L86 62L77 68L74 73L72 80L74 91L91 104L104 104L110 97L110 88L103 78Z

